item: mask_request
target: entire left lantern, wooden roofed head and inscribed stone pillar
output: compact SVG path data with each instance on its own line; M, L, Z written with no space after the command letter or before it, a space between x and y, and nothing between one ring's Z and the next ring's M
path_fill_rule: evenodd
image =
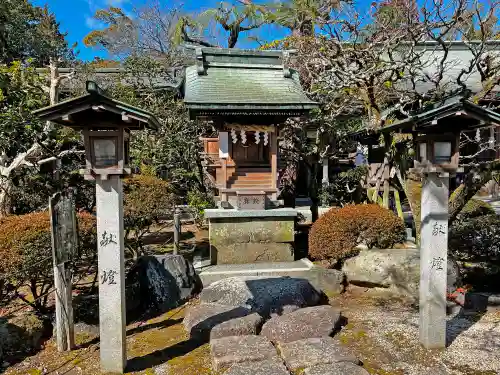
M34 112L41 120L81 131L82 174L96 181L101 370L125 371L125 261L122 177L131 173L129 139L134 129L157 129L156 117L106 95L94 82L87 94Z

